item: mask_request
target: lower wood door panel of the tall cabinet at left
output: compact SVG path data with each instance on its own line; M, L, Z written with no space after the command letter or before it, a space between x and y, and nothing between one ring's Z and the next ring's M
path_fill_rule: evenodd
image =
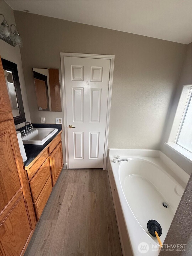
M23 195L0 226L0 242L6 256L20 255L32 235Z

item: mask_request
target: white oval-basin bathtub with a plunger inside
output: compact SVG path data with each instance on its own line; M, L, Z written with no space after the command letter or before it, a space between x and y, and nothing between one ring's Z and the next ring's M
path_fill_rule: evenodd
M113 163L116 155L128 161ZM164 242L189 175L157 150L110 149L108 169L123 254L158 255L147 222L159 222Z

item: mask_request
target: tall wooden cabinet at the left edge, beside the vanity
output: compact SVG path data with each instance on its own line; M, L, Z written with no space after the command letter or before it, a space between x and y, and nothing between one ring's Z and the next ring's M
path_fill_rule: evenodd
M35 224L0 58L0 255L23 255Z

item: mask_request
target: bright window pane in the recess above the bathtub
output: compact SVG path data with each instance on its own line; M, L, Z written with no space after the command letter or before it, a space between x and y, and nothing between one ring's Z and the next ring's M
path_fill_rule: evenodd
M186 104L182 122L179 127L176 143L184 149L192 152L192 90L190 90L189 100Z

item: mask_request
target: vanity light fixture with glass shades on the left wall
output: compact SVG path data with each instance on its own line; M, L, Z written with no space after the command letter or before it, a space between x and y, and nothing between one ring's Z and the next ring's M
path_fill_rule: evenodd
M14 24L9 25L7 24L7 21L5 20L5 17L3 14L0 14L3 16L3 21L1 22L0 26L0 38L5 41L6 43L16 46L18 45L19 47L22 47L22 39L21 36L19 35L19 32L17 31L17 28ZM15 31L12 33L11 27L15 27Z

